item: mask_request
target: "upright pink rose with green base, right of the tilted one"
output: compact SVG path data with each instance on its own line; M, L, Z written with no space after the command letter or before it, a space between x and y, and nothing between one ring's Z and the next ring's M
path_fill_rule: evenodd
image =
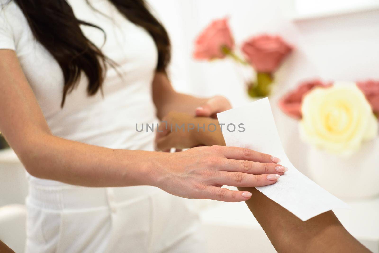
M257 72L273 73L292 47L279 36L260 35L244 42L242 51Z

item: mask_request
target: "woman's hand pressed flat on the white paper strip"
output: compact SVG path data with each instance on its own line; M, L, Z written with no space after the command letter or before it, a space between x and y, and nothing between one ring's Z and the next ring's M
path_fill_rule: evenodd
M271 155L238 147L195 147L177 153L157 153L160 169L154 186L185 198L228 202L248 200L251 193L227 186L265 186L276 183L285 167Z

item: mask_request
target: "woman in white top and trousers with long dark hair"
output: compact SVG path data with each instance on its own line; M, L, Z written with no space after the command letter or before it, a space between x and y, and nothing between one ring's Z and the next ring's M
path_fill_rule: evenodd
M276 182L273 156L156 152L136 131L230 108L172 89L167 33L142 0L0 3L0 131L27 170L27 252L201 252L186 198L243 201L220 186Z

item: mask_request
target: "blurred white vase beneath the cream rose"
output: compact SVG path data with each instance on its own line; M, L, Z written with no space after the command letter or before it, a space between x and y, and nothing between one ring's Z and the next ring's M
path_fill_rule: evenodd
M379 196L379 137L362 144L344 158L312 147L308 156L310 178L344 200Z

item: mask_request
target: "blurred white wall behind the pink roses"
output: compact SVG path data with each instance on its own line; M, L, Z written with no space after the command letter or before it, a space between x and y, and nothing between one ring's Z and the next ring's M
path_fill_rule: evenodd
M279 133L295 166L304 167L307 145L299 140L297 122L275 106L277 99L304 79L379 79L379 11L293 22L283 13L284 0L159 0L152 6L169 30L173 43L172 81L185 92L222 94L233 105L246 103L244 84L231 61L199 62L191 57L193 41L208 23L224 16L237 44L259 33L280 34L296 47L276 73L270 99ZM305 172L306 173L306 172Z

